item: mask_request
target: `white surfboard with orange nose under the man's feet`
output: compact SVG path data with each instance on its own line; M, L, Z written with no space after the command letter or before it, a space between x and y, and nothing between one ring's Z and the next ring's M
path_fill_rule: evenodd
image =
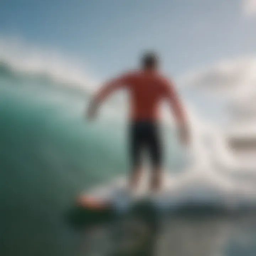
M167 200L170 198L166 188L171 187L172 178L165 176L164 181L165 184L157 195L150 193L146 175L135 193L127 190L127 177L119 177L104 185L81 192L75 198L70 219L82 226L84 222L101 222L133 214L134 209L136 212L140 210L143 212L143 209L149 207L161 212L163 205L167 205Z

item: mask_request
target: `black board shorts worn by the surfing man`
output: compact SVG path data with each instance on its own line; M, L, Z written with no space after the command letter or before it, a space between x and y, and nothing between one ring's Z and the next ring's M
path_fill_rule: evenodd
M159 125L153 121L134 121L130 124L130 158L133 168L142 164L142 151L149 155L151 165L162 165L162 145Z

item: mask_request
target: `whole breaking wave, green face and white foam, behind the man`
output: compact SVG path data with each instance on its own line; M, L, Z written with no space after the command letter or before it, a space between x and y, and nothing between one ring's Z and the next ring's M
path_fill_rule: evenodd
M0 39L0 226L4 234L0 254L74 255L74 234L63 216L75 198L84 190L113 198L124 187L129 170L125 115L107 102L96 123L85 121L83 111L97 85L81 68L70 67L49 52L29 49ZM221 133L215 134L209 125L214 131L207 134L209 126L189 111L194 141L191 162L185 162L173 127L166 123L163 127L166 174L159 207L169 207L178 217L254 211L255 172L246 176L244 170L234 173L213 165L215 155L209 153L207 143L209 138L219 140ZM221 147L216 151L224 155ZM187 222L184 225L187 228ZM223 223L219 226L223 228ZM176 229L177 234L184 230L182 225L168 229ZM191 230L196 230L195 225ZM209 225L203 230L209 234ZM167 237L173 245L179 240L181 247L184 241L202 237L195 233L180 239L177 234ZM215 236L219 238L218 233Z

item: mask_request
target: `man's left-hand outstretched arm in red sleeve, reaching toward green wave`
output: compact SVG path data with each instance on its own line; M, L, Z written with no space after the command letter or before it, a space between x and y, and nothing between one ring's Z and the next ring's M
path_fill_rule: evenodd
M101 89L92 98L89 108L87 110L87 117L92 119L96 116L96 112L100 104L115 90L120 89L127 83L127 78L125 76L120 76L113 80L110 80L103 84Z

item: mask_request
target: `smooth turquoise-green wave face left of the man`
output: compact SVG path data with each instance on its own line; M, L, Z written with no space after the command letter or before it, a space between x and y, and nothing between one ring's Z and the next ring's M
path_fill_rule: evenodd
M74 255L65 211L128 170L126 123L88 123L88 93L70 87L0 67L1 255Z

